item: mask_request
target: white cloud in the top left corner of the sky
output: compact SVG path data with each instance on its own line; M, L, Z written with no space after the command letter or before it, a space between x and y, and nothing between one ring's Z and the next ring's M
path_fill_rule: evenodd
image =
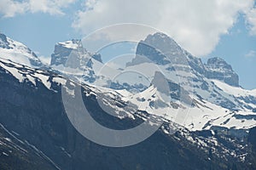
M14 17L26 12L43 12L48 14L64 14L63 8L75 0L0 0L0 14L4 17Z

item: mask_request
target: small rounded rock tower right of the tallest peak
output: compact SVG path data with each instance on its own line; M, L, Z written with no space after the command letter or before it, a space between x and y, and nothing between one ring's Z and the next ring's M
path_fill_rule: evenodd
M224 59L218 57L208 59L207 61L207 74L208 78L217 79L226 82L231 86L239 86L239 77L235 71L232 70L231 65L227 64Z

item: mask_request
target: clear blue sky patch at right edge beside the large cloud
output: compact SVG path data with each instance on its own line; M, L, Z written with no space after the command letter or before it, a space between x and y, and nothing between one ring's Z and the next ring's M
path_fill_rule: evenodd
M207 58L212 56L224 58L232 65L243 88L256 88L256 36L249 35L242 17L229 34L220 37L212 53L207 54Z

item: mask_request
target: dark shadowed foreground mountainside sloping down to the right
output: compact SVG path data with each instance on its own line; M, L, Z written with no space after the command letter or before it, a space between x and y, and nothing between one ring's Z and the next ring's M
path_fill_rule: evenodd
M251 156L249 148L237 150L241 144L246 146L247 140L241 142L241 139L232 138L230 142L225 133L217 130L216 133L190 133L168 121L150 138L134 146L109 148L95 144L73 127L61 104L61 84L80 86L79 84L54 72L24 68L8 60L2 60L0 68L3 94L0 97L0 120L9 129L9 135L15 136L9 140L9 144L14 145L16 140L20 141L23 148L38 152L56 169L228 169L254 166L251 161L247 161L247 154ZM22 75L24 81L20 82ZM160 77L159 74L155 76ZM28 77L31 79L28 80ZM154 84L154 88L158 87L159 85ZM115 108L118 104L125 104L122 99L117 100L119 94L85 84L82 89L84 104L90 114L104 126L117 129L131 127L142 121L146 114L138 110L134 113L134 118L109 116L102 111L96 97L108 99L108 105ZM174 134L168 133L170 127L174 126L180 130ZM6 153L6 147L3 144L1 147L1 151ZM13 152L7 154L16 157ZM28 158L29 161L34 159ZM12 164L6 161L4 167L9 169ZM43 167L38 164L35 168Z

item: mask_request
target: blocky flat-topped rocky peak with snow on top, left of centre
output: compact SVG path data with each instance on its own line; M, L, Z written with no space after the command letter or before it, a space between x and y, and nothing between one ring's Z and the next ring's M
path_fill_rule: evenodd
M82 82L95 82L95 71L102 67L101 54L88 52L81 40L58 42L50 66Z

